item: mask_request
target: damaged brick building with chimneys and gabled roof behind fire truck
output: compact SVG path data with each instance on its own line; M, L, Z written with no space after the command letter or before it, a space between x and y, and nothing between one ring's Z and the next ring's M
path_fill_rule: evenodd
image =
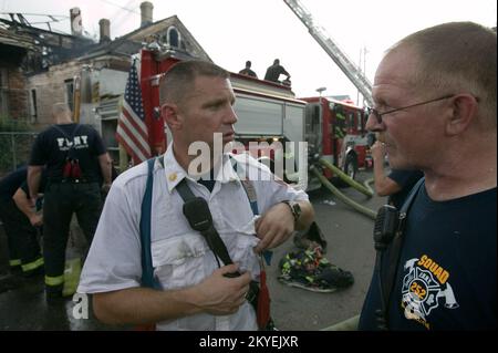
M209 56L191 33L176 17L153 22L153 4L141 4L141 23L135 31L111 40L111 23L102 19L100 40L82 35L81 12L70 11L72 34L60 34L37 29L22 15L11 20L0 19L0 116L12 121L24 121L40 131L51 124L51 106L55 102L73 104L74 80L82 77L85 68L92 72L111 70L116 74L116 84L122 85L115 94L124 92L125 80L133 54L146 43L159 43L174 48L188 56L209 60ZM80 17L80 21L74 21ZM6 60L6 58L8 60ZM83 80L84 77L82 77ZM108 92L82 92L82 103L95 103Z

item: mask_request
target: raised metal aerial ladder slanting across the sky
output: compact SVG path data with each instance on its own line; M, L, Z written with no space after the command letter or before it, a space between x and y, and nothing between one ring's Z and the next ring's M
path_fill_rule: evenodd
M334 43L334 41L328 35L326 31L313 23L311 13L302 6L299 0L283 0L287 6L294 12L294 14L301 20L308 28L310 34L314 40L323 48L330 58L338 64L338 66L350 79L354 86L363 95L364 101L373 106L372 101L372 83L366 79L361 69L342 52L342 50Z

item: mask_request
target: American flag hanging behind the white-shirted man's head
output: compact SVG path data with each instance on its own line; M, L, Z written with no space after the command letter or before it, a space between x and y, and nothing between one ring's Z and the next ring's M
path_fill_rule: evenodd
M147 125L145 125L144 106L142 104L142 90L135 61L132 64L126 83L116 139L132 156L134 165L151 158Z

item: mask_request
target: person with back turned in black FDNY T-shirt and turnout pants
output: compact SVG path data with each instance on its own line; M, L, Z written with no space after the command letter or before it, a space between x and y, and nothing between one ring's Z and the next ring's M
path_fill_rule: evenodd
M100 181L111 185L111 159L98 133L72 122L66 104L53 105L55 124L40 133L32 146L28 184L34 204L39 176L46 166L48 186L43 205L43 256L49 303L62 298L65 247L73 214L89 245L102 210Z

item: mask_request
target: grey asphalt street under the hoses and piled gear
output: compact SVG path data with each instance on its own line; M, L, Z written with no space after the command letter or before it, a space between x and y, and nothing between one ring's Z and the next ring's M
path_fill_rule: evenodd
M360 180L372 176L361 172ZM383 198L367 198L352 188L345 195L363 206L376 210ZM279 330L321 330L357 314L372 277L375 252L373 220L336 200L328 190L310 193L317 222L328 240L325 257L333 264L351 271L354 284L332 293L318 293L288 287L278 281L279 260L297 248L292 240L276 249L271 266L267 267L271 294L271 313ZM69 299L48 307L43 293L43 278L10 278L7 276L7 243L0 231L0 330L128 330L108 326L94 319L92 310L85 319L81 299ZM68 256L84 245L70 241Z

